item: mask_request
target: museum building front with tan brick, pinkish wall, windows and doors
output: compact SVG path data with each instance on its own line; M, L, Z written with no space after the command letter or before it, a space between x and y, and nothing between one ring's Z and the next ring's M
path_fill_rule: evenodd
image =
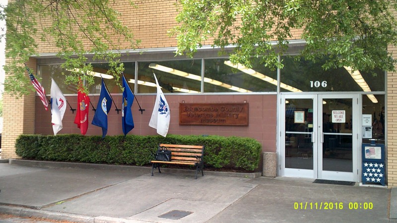
M171 109L169 134L243 136L257 139L263 152L270 153L261 169L275 167L269 175L308 177L361 182L362 144L377 139L384 144L387 156L388 186L397 186L397 106L396 73L374 70L352 72L349 67L324 71L321 63L312 63L294 55L305 42L300 31L290 41L289 56L279 59L284 68L269 70L260 63L252 69L230 63L228 56L218 56L218 50L203 47L194 58L175 57L176 40L167 32L176 25L177 11L167 0L143 0L132 7L122 0L114 7L122 13L122 21L132 28L139 49L124 49L122 56L125 75L135 93L132 106L135 128L129 134L155 135L149 127L156 88L156 74ZM208 46L210 42L207 43ZM397 57L396 46L388 49ZM66 96L70 109L77 104L75 86L64 84L57 49L42 43L40 54L27 65L42 79L49 93L53 77ZM91 61L94 71L106 73L108 64ZM135 82L136 80L136 82ZM115 104L108 117L108 135L122 134L121 90L112 79L105 79ZM100 78L90 88L90 122L96 108ZM370 89L364 90L364 89ZM3 97L4 128L2 158L18 158L15 139L20 134L53 134L51 112L45 111L40 99L30 94L15 99ZM145 111L139 111L139 106ZM181 123L181 104L230 105L248 104L246 125L189 125ZM197 112L206 116L205 112ZM234 115L233 112L229 112ZM228 113L228 114L229 114ZM227 115L227 114L225 114ZM237 113L235 115L238 115ZM75 113L66 110L59 134L79 133L73 123ZM202 118L216 122L219 118ZM101 128L89 125L87 135L101 135ZM265 172L265 171L264 171Z

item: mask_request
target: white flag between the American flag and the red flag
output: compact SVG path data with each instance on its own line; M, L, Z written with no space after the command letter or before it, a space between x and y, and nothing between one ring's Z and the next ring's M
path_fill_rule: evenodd
M66 111L66 98L59 89L57 83L51 78L51 122L54 135L63 128L62 119Z

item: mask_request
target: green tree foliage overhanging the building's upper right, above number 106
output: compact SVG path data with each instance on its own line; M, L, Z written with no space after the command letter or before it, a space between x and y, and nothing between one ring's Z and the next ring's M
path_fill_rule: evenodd
M193 56L213 40L214 47L235 47L233 63L252 67L260 58L281 68L277 58L287 52L287 40L303 39L301 56L327 58L324 69L396 69L387 52L397 45L395 0L181 0L178 7L180 24L172 34L179 55Z

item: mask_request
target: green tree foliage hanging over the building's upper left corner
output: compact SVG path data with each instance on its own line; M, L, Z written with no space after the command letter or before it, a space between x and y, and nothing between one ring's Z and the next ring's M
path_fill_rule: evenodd
M55 53L64 59L63 68L74 70L66 76L66 83L77 85L82 76L88 86L94 82L92 76L85 75L92 71L88 56L109 62L108 74L114 75L118 82L124 70L119 47L128 43L126 47L134 49L139 41L134 40L132 31L118 19L120 13L111 7L115 2L13 0L2 6L0 18L5 20L7 29L4 71L8 75L4 90L16 96L33 90L23 63L38 55L37 47L44 43L58 48Z

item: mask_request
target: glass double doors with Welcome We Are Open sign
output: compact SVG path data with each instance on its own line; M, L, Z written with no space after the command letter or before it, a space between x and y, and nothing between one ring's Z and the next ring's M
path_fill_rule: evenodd
M281 95L280 175L358 181L358 96Z

